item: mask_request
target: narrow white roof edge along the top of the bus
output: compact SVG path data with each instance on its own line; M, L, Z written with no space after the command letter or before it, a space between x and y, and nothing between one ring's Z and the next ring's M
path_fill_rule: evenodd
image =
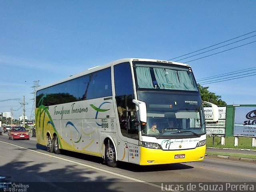
M144 58L124 58L124 59L119 59L119 60L112 61L112 62L110 62L108 64L104 64L102 66L95 66L95 67L89 68L87 70L84 70L82 72L79 72L77 74L70 75L69 77L64 78L62 80L59 80L57 82L54 82L54 83L51 83L51 84L48 84L48 85L44 85L44 86L40 86L37 89L37 91L42 90L42 89L47 88L47 87L50 87L50 86L54 86L56 84L60 84L62 82L65 82L65 81L68 81L68 80L71 80L71 79L78 78L78 77L86 75L86 74L90 74L90 73L98 71L98 70L102 70L104 68L110 67L111 65L116 65L116 64L124 63L124 62L132 62L132 61L160 62L160 63L163 63L163 64L176 64L176 65L182 65L182 66L190 67L190 65L188 65L188 64L173 62L173 61L166 61L166 60L144 59Z

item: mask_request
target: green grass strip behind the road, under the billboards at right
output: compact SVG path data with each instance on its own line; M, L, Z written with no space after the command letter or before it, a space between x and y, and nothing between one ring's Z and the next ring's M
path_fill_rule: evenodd
M207 147L216 147L216 148L234 148L234 149L255 149L256 147L252 147L252 138L251 137L239 137L238 138L238 146L234 146L234 137L226 137L225 145L221 145L221 138L215 136L214 144L212 143L213 137L206 137L206 146Z

